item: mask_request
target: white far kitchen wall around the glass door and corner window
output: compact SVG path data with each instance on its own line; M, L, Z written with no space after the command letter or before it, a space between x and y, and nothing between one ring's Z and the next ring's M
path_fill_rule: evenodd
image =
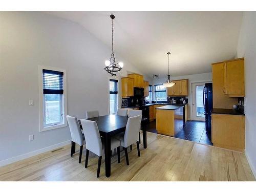
M211 63L209 63L211 65ZM192 83L194 82L208 82L212 79L211 73L201 73L201 74L194 74L194 75L185 75L179 77L171 77L171 80L178 80L178 79L188 79L188 119L191 120L192 117ZM167 74L165 78L153 79L154 84L161 84L167 80ZM153 86L154 87L154 86ZM153 88L154 92L154 88ZM153 96L154 98L154 96Z

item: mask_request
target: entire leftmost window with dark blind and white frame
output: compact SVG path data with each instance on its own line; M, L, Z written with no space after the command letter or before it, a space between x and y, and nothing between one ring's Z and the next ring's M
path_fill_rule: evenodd
M66 122L66 71L39 67L40 70L40 123L39 131L63 126Z

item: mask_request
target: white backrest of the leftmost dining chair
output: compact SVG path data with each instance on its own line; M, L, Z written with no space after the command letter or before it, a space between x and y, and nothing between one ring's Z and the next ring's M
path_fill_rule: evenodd
M66 116L69 123L69 130L71 134L71 140L80 146L83 145L83 136L80 129L80 125L76 117Z

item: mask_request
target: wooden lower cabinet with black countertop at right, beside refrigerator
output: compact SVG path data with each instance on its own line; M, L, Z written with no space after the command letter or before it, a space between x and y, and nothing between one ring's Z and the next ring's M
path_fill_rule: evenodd
M244 115L212 114L211 123L211 142L214 146L244 152Z

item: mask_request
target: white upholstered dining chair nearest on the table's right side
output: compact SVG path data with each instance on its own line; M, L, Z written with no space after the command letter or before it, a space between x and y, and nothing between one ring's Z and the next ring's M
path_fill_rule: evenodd
M121 146L123 147L125 153L126 164L129 165L129 157L127 152L127 147L132 144L137 144L138 156L140 157L140 146L139 146L139 132L140 132L140 122L142 115L129 117L126 124L126 129L123 134L116 135L115 138L121 141Z

